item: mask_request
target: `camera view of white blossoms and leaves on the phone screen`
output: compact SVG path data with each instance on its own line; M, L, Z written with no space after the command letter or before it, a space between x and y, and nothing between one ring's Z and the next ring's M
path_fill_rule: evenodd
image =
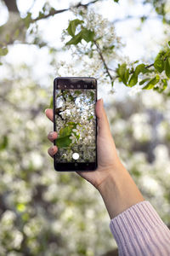
M56 161L94 162L95 90L55 90L55 120L59 148Z

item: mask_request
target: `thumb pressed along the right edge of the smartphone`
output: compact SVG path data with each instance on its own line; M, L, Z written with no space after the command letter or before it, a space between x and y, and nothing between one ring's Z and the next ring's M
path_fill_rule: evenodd
M105 136L110 133L110 126L109 126L109 121L107 119L107 115L105 113L105 108L104 108L104 103L103 99L99 99L96 102L96 116L98 118L98 127L99 127L99 136Z

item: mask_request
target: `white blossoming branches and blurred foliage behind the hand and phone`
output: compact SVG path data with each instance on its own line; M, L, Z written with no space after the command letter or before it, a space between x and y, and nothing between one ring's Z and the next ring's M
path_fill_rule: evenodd
M166 0L0 1L0 255L117 254L98 191L47 153L58 75L98 79L118 153L170 225L169 14Z

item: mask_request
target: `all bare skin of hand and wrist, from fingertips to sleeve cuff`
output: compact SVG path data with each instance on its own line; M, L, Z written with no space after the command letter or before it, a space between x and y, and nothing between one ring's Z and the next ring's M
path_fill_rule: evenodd
M144 201L144 198L117 155L103 99L96 102L95 112L98 119L98 168L91 172L78 171L77 173L99 190L110 217L114 218L128 207ZM48 119L54 120L53 109L48 108L45 113ZM48 139L52 143L56 138L57 132L48 133ZM54 157L57 151L57 146L48 148L48 154L51 157Z

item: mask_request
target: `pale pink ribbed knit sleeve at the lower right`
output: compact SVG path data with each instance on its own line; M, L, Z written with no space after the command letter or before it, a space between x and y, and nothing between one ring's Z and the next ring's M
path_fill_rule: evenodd
M170 255L170 230L149 201L129 207L109 226L121 256Z

